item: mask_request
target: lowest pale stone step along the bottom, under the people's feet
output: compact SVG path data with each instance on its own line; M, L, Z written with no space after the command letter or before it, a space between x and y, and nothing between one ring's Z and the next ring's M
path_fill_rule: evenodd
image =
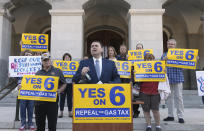
M204 109L204 106L203 106ZM167 116L166 109L160 109L161 114L161 127L163 131L203 131L204 129L204 119L203 119L203 109L185 109L184 118L185 124L179 124L177 118L173 122L164 122L163 118ZM67 107L64 109L64 117L58 118L57 128L59 130L66 129L67 131L72 130L72 119L68 117ZM20 121L15 122L15 108L14 107L1 107L0 108L0 129L18 129L20 127ZM140 108L140 117L133 119L133 128L134 131L144 131L146 124L144 115ZM35 117L35 116L34 116ZM35 121L33 119L33 121ZM154 120L152 119L152 128L154 131Z

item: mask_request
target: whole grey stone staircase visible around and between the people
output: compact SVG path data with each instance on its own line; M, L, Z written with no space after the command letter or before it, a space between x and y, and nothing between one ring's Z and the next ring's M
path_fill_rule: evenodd
M201 97L197 95L196 90L184 90L183 99L185 106L185 124L179 124L177 121L174 122L163 122L162 119L167 116L167 109L160 109L161 113L161 127L163 131L203 131L204 130L204 117L203 110L204 106L202 104ZM8 117L8 120L0 121L0 129L18 129L20 127L19 121L14 121L15 117L15 105L16 105L16 95L10 93L4 99L0 101L0 111L1 118ZM66 129L67 131L72 130L72 119L68 117L67 107L65 108L65 117L58 118L57 128L59 130ZM142 112L142 109L140 108ZM8 114L6 114L8 112ZM186 116L186 114L188 116ZM140 114L139 118L134 118L134 131L144 131L145 129L145 119L143 113ZM153 126L153 131L154 126Z

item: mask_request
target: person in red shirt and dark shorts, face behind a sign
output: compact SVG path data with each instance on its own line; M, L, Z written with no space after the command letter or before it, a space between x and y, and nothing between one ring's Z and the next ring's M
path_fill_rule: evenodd
M154 59L154 55L149 53L147 53L144 57L145 61L152 61ZM140 97L144 101L142 109L147 122L146 131L152 131L150 110L152 110L154 116L156 131L161 131L159 113L160 95L158 92L158 84L159 82L142 82L140 85Z

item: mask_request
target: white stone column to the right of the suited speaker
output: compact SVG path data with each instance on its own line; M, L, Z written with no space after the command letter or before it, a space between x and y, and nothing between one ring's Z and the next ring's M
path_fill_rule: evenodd
M136 49L142 43L145 49L153 49L159 59L163 53L164 9L130 9L129 10L129 48Z

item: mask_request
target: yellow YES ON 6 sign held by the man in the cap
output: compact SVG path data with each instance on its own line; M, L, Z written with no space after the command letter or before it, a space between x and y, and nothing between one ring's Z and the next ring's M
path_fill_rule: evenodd
M25 75L18 99L56 102L59 77Z

